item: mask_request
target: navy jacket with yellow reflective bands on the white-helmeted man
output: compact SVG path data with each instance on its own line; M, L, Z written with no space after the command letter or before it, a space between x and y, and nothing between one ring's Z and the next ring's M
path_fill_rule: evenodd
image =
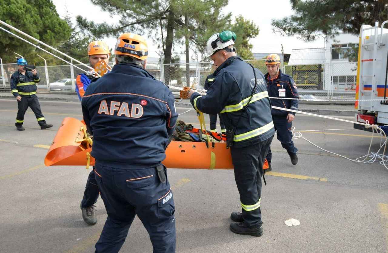
M215 78L206 95L194 93L193 107L203 113L221 113L225 128L234 128L236 148L254 145L274 135L271 104L263 73L256 69L257 87L246 112L255 85L252 67L239 56L229 57L214 71Z

